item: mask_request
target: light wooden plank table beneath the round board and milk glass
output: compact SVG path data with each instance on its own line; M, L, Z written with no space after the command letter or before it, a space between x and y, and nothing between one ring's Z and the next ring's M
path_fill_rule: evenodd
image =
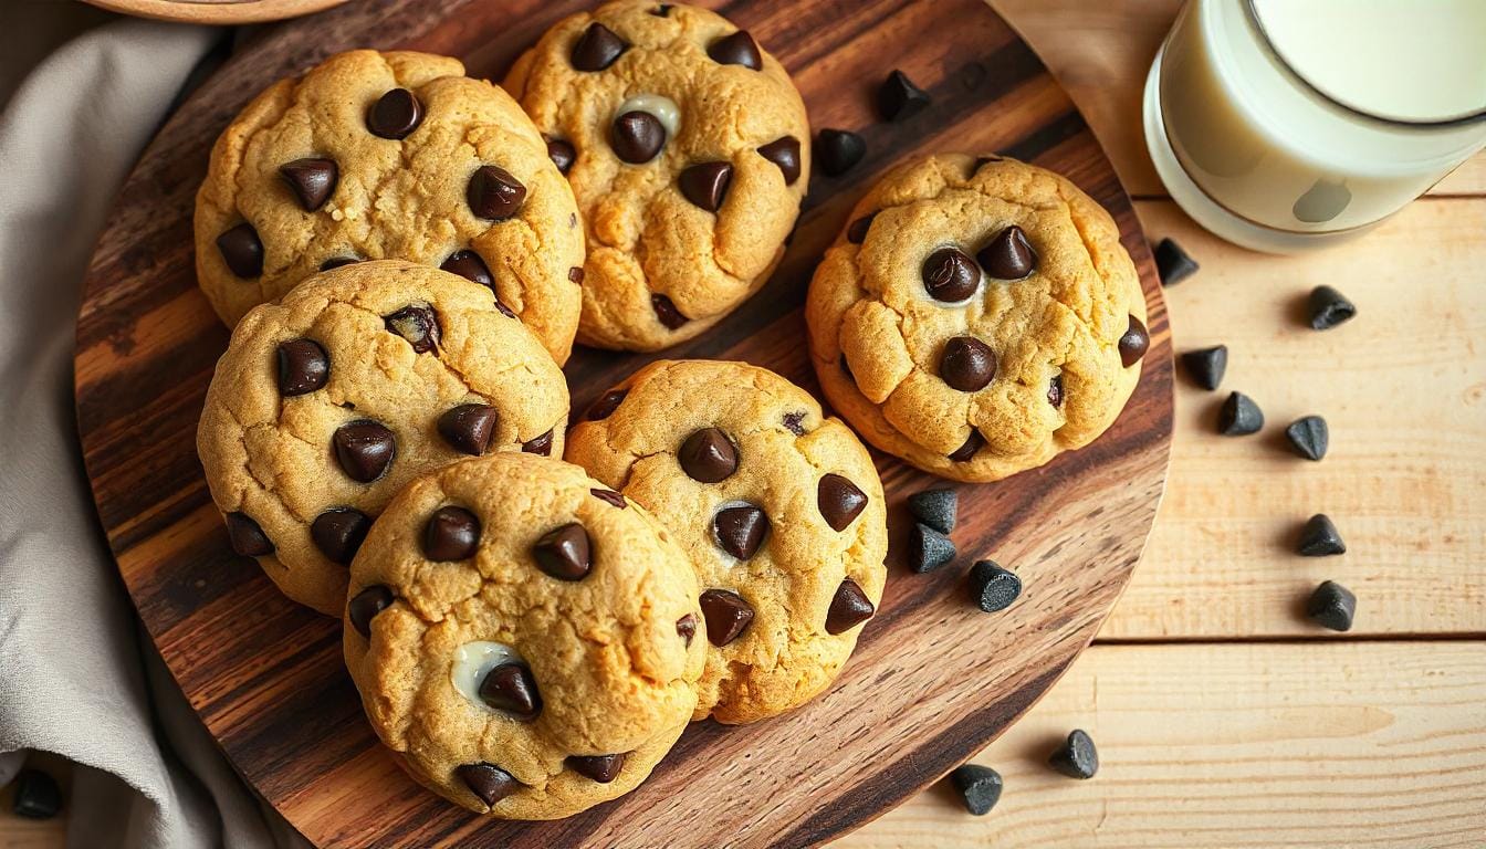
M1202 272L1167 290L1177 349L1226 343L1223 390L1177 387L1171 482L1100 642L975 760L1006 779L972 818L936 787L843 849L1486 845L1486 156L1349 245L1266 257L1165 198L1140 91L1178 0L993 0L1073 94L1152 239ZM1360 308L1327 333L1297 303L1333 284ZM1227 390L1269 427L1220 437ZM1274 439L1324 415L1312 464ZM1317 511L1340 558L1291 553ZM1358 596L1334 635L1299 607L1321 580ZM1095 779L1043 766L1070 730ZM4 810L9 800L0 798ZM59 846L61 821L0 813L0 846Z

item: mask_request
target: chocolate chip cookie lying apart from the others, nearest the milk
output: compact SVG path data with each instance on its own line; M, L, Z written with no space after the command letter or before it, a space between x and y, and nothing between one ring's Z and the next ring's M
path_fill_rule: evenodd
M877 448L999 480L1098 437L1140 379L1146 299L1068 180L999 156L903 164L810 283L826 397Z

